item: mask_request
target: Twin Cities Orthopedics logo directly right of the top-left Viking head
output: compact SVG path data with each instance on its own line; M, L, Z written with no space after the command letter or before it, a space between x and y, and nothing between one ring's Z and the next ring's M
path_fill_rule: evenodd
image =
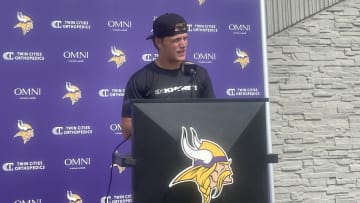
M87 20L53 20L51 27L65 30L90 30L91 25Z

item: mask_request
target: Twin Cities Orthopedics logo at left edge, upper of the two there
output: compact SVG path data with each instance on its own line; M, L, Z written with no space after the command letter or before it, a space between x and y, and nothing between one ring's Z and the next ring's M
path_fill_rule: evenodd
M45 57L40 51L6 51L2 54L5 61L44 61Z

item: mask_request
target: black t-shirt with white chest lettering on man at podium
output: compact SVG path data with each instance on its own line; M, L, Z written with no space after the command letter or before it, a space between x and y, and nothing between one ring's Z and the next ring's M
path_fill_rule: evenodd
M133 99L215 98L208 72L196 66L194 74L162 69L151 62L134 73L125 89L122 116L131 117Z

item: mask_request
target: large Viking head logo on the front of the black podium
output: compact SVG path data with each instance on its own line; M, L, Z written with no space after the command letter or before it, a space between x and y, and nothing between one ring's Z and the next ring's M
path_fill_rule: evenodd
M218 144L205 139L199 140L192 127L190 131L192 145L188 141L187 129L182 127L181 147L184 154L192 160L192 165L176 175L169 187L194 182L201 194L202 203L210 203L220 196L224 185L233 183L231 159Z

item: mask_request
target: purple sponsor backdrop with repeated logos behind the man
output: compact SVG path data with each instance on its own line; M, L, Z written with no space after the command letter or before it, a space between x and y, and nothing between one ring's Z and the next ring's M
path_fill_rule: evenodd
M132 202L131 168L111 171L111 154L123 141L125 84L157 57L145 40L153 20L184 16L187 59L208 70L218 98L264 98L260 8L260 0L2 2L0 202Z

